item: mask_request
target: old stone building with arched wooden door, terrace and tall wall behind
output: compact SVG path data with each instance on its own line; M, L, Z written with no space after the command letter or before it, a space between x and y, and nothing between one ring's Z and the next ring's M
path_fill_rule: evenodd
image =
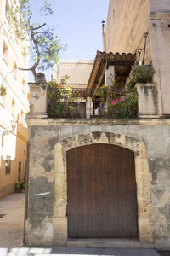
M170 248L169 23L167 0L110 1L87 105L110 71L124 81L134 57L143 60L147 33L144 61L155 75L136 85L136 118L93 110L88 119L48 119L47 84L30 84L27 245Z

